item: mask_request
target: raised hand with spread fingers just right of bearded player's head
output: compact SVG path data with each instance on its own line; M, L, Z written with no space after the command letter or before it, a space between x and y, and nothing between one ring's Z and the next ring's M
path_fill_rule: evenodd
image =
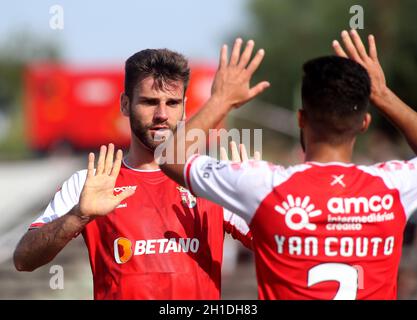
M236 39L230 61L228 61L227 45L223 45L219 69L212 86L212 97L217 97L234 108L240 107L269 87L267 81L250 86L250 80L262 62L265 51L258 50L251 59L255 42L249 40L241 54L242 42L242 39Z

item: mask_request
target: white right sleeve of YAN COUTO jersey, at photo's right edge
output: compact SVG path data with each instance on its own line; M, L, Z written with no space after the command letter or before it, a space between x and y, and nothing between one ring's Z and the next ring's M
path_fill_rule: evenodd
M398 190L408 220L417 209L417 158L379 163L368 170L380 176L389 188Z

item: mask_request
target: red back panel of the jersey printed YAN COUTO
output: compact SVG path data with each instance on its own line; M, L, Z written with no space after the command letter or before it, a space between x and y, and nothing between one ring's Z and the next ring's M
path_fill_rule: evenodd
M400 170L291 171L278 174L251 222L259 297L395 299L408 204L395 184Z

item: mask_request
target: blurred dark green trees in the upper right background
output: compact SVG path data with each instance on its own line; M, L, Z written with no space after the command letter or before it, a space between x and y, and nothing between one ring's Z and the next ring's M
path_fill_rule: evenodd
M417 1L415 0L253 0L248 3L253 28L246 35L266 49L257 79L268 79L268 102L297 109L301 68L305 61L333 54L331 43L350 28L353 5L364 9L365 37L376 36L380 60L389 86L417 107ZM374 114L378 127L394 136L395 130Z

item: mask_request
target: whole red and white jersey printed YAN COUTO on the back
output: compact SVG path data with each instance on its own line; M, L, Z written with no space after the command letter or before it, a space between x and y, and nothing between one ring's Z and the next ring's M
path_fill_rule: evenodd
M184 175L193 194L248 222L259 298L396 299L417 158L283 168L193 156Z

